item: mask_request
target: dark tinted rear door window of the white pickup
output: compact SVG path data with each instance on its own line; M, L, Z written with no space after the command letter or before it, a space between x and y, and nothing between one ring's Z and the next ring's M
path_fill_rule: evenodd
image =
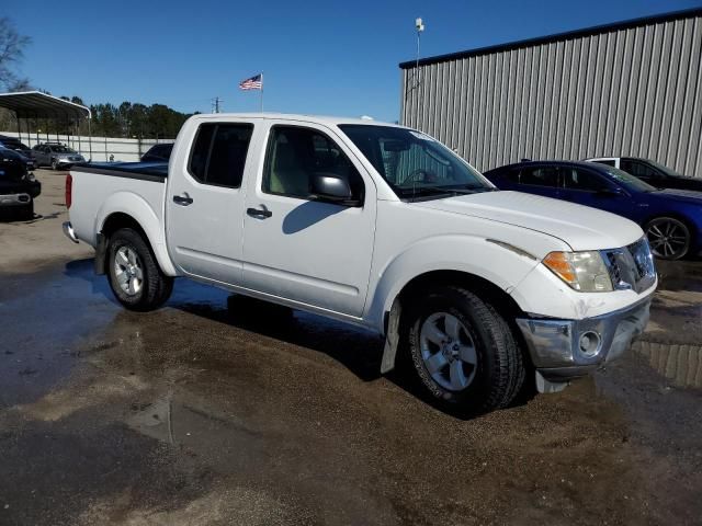
M251 124L203 124L190 156L190 174L201 183L238 188L251 142Z

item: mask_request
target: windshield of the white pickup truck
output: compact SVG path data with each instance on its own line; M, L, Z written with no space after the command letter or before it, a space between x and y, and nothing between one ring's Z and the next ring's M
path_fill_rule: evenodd
M339 125L393 191L404 198L496 190L441 142L407 128Z

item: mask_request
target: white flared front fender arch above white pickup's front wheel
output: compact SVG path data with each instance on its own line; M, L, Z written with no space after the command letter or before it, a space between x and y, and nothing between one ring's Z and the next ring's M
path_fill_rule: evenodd
M390 310L397 295L414 278L434 271L457 271L482 277L509 294L539 264L537 258L510 247L462 235L420 240L380 271L364 318L384 333L385 312Z

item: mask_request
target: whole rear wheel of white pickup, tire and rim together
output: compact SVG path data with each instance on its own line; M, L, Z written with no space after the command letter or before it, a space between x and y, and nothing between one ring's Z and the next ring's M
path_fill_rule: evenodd
M127 309L157 309L173 290L173 278L161 272L141 235L131 228L110 237L107 265L112 291Z

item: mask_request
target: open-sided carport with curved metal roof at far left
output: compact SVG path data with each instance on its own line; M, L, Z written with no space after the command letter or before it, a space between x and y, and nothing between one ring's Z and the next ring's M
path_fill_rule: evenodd
M92 160L92 132L90 127L92 114L90 113L90 108L76 104L75 102L42 93L41 91L0 93L0 107L5 107L14 112L14 116L18 119L20 140L22 140L22 119L24 119L26 124L26 136L29 138L31 136L29 121L32 118L47 118L66 124L75 122L76 125L81 118L87 118L88 144L90 148L90 160ZM56 134L56 137L58 138L58 134ZM38 142L38 132L36 132L36 138ZM48 132L46 133L46 140L48 140ZM80 149L80 134L78 134L78 149Z

